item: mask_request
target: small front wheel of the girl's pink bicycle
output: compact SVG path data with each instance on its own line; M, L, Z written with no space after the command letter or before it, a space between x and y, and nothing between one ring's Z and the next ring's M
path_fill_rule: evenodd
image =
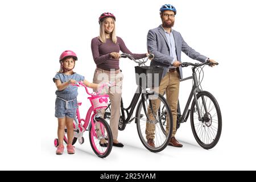
M113 147L112 131L103 118L95 118L95 120L96 121L93 121L94 127L90 125L89 128L90 146L92 146L92 149L97 156L106 158ZM102 140L107 142L106 139L108 139L108 143L101 144Z

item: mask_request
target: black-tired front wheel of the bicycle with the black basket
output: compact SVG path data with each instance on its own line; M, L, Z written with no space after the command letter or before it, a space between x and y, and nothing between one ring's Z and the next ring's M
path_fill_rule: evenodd
M161 121L158 118L158 121L156 121L156 125L155 125L155 135L154 135L155 141L156 141L156 143L154 143L155 147L152 147L147 143L146 136L144 136L144 134L145 134L144 131L146 130L146 126L145 126L145 130L141 127L141 125L143 125L143 121L142 121L143 119L141 118L141 115L142 115L141 110L143 108L143 100L142 99L139 101L139 104L137 106L135 123L137 123L137 131L138 131L139 139L141 139L141 142L142 142L143 146L146 147L147 150L149 150L151 152L160 152L160 151L164 150L164 148L167 147L167 145L168 145L168 143L171 139L172 128L173 128L172 113L171 113L171 109L168 106L168 103L167 103L166 99L162 95L160 95L158 93L155 93L155 92L147 93L146 100L148 100L148 97L151 97L151 96L154 96L157 99L159 99L161 102L163 102L164 106L167 108L167 117L170 118L170 120L169 120L170 124L168 125L168 128L169 128L170 132L168 132L166 134L166 132L164 132L166 130L162 130L162 127L161 127L161 124L160 124ZM158 109L156 109L156 110L158 110ZM144 115L146 115L146 114L144 114ZM158 117L158 114L155 114L155 117L156 117L156 115ZM147 122L148 121L146 119L146 123ZM160 126L158 126L158 125L160 125ZM158 132L158 134L157 134L156 130L160 131L160 132ZM162 142L162 143L160 143L159 140L162 140L162 138L163 138L163 142L160 141L160 142Z

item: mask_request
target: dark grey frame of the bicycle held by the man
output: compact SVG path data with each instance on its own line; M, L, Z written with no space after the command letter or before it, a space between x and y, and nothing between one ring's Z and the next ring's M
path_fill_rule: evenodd
M188 116L188 113L189 113L189 111L190 111L190 110L188 109L188 107L189 107L189 105L190 105L190 103L191 103L191 101L192 101L192 97L193 97L193 98L196 98L196 94L202 91L202 90L199 88L199 82L198 82L198 80L197 80L197 76L196 76L196 72L195 72L195 67L192 68L192 72L193 72L193 73L192 73L192 76L180 80L180 82L181 82L181 81L193 79L193 82L194 82L194 83L193 83L193 86L192 86L191 93L189 94L189 97L188 97L187 104L185 105L185 109L184 109L184 111L183 111L183 114L182 114L180 123L183 123L183 122L186 122L186 121L187 121L187 118L188 118L187 116ZM198 102L197 102L197 99L195 99L195 104L196 104L196 107L199 108L199 104L198 104ZM205 111L207 111L207 106L205 105L205 100L204 100L204 98L203 98L203 105L204 105ZM197 113L198 113L198 115L199 115L199 121L201 121L201 114L200 114L199 109L197 109Z

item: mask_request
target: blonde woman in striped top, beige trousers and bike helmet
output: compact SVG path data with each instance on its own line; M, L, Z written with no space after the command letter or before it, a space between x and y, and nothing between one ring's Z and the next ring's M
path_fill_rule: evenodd
M113 134L113 146L123 147L123 144L117 140L123 80L123 74L119 69L119 51L129 53L135 59L147 57L149 54L133 54L127 49L123 40L115 35L115 16L112 13L102 13L98 22L100 23L100 36L93 38L91 45L93 59L97 65L93 82L115 82L115 86L110 88L109 92L111 102L110 128Z

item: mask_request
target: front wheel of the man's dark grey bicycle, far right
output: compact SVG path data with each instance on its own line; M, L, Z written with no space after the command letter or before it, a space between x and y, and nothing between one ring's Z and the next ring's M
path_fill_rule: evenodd
M191 105L191 127L196 142L205 149L216 146L220 139L222 129L222 118L218 102L209 92L203 91L197 94ZM201 121L199 119L199 114Z

